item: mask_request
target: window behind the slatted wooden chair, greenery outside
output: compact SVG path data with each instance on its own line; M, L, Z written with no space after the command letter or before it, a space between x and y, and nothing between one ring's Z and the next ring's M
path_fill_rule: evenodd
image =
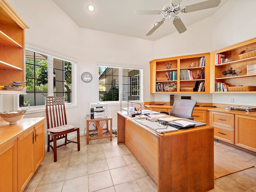
M64 96L72 102L72 63L26 50L26 93L19 106L44 105L48 95Z

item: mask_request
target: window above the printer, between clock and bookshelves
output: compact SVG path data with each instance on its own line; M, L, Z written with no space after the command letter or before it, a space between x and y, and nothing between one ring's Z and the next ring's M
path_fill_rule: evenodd
M99 101L141 100L142 70L99 66Z

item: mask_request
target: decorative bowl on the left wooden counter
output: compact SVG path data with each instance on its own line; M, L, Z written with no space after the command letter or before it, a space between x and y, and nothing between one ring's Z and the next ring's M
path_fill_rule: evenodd
M0 116L10 125L17 124L24 117L26 110L0 112Z

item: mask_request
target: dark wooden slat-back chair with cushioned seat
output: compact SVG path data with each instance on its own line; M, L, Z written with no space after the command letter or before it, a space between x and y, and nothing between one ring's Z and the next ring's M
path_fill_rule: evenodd
M77 143L77 150L80 151L80 134L79 128L67 124L65 100L63 96L47 96L45 97L46 106L46 120L48 131L48 146L47 152L50 147L53 150L54 162L57 161L57 148L67 145L69 143ZM67 139L67 134L75 132L77 134L77 141ZM57 146L57 140L64 139L64 144ZM51 142L53 142L51 144Z

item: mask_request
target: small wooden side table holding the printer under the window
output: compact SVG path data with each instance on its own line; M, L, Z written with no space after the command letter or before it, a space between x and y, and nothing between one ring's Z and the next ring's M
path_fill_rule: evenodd
M110 130L108 129L108 121L110 121ZM92 122L95 124L96 129L89 130L89 122ZM110 138L110 141L112 141L112 117L108 115L108 118L100 118L100 119L90 119L90 115L86 115L86 126L87 126L87 133L86 133L86 141L87 144L89 144L89 140L95 140L95 139L102 139L102 138ZM106 128L104 128L106 124ZM107 132L110 134L109 136L103 136L103 130L107 130ZM89 132L98 131L98 137L95 138L89 138Z

